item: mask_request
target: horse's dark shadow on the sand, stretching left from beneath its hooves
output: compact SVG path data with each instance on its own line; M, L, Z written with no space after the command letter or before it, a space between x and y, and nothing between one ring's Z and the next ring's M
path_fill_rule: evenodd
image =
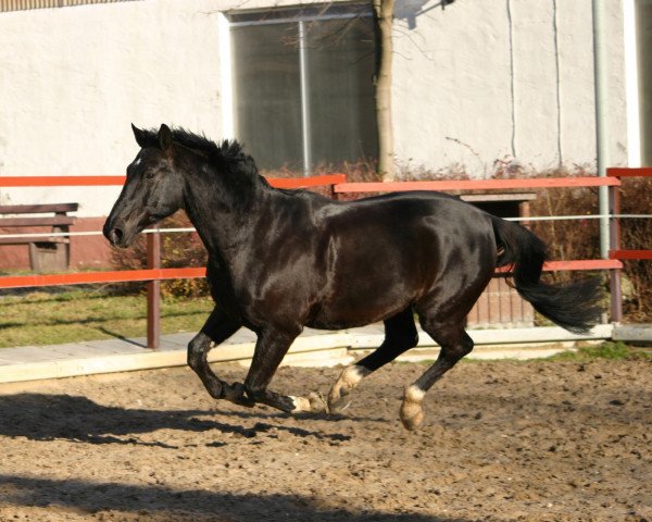
M229 412L229 415L234 413ZM213 419L205 419L205 417ZM322 433L286 426L281 417L265 412L240 412L239 419L260 418L251 427L221 422L214 410L149 410L127 409L99 405L82 396L15 394L0 396L0 436L26 437L32 440L67 439L90 444L136 444L174 448L161 442L139 440L137 435L158 430L205 432L217 430L242 437L276 428L298 437L314 436L321 439L348 440L350 436ZM279 421L273 423L275 420ZM212 442L211 445L221 445Z

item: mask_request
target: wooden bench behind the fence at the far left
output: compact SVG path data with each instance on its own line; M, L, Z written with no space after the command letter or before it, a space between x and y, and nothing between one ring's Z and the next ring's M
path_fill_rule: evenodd
M70 264L70 239L51 234L70 232L75 217L67 213L76 212L78 207L78 203L0 204L0 228L4 229L4 234L20 234L13 228L50 227L50 234L43 232L42 235L29 237L2 237L0 233L0 246L28 245L29 263L36 272L66 270Z

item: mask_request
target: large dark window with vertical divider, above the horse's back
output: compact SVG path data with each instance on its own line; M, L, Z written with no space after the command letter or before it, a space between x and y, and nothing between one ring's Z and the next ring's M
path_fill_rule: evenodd
M259 167L308 175L377 154L369 8L229 16L235 136Z

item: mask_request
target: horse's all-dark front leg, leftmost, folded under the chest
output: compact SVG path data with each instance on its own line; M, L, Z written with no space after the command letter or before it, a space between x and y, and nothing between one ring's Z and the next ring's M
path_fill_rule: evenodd
M244 396L242 384L228 385L221 381L213 373L208 361L212 344L218 345L228 339L240 326L238 321L215 308L201 331L188 344L188 365L197 373L211 397L253 406L253 402Z

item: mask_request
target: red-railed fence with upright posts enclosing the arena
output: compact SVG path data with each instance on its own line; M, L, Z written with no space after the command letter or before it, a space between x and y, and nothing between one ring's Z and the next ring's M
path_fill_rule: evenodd
M330 174L302 178L268 178L277 188L308 188L331 186L333 194L343 192L388 192L405 190L504 190L519 188L551 187L599 187L610 188L612 250L610 259L551 261L546 263L547 271L562 270L609 270L612 274L612 320L619 321L620 291L619 272L624 259L652 259L652 250L622 250L619 248L619 192L620 177L652 176L652 169L609 169L606 177L570 178L528 178L528 179L469 179L438 182L397 182L397 183L347 183L344 174ZM54 187L54 186L121 186L125 176L3 176L0 187ZM84 272L64 274L33 274L0 277L0 288L39 287L78 284L106 284L123 282L149 282L148 286L148 346L159 346L160 318L159 282L172 278L203 277L204 268L161 269L159 256L159 234L150 234L148 240L148 269L106 272ZM614 302L617 299L618 302Z

